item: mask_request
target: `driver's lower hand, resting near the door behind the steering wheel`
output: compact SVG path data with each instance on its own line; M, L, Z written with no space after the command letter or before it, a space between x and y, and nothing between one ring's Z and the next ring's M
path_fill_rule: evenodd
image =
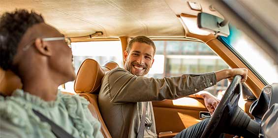
M211 114L213 114L220 101L215 96L206 91L200 91L197 93L197 95L200 95L204 99L207 109Z

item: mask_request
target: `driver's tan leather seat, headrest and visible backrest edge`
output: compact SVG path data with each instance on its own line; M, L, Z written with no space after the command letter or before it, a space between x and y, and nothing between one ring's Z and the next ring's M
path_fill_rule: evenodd
M118 67L119 65L115 62L108 62L100 67L95 60L86 59L80 66L74 82L74 91L91 103L89 104L89 109L93 116L101 123L101 132L104 138L112 137L101 117L97 97L104 74Z

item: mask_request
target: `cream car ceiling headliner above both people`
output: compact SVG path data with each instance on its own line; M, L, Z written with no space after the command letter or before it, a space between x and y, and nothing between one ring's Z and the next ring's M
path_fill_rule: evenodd
M219 16L208 9L205 0L191 1ZM0 15L21 8L41 13L66 36L103 32L99 37L185 37L176 15L200 12L191 10L186 0L0 0Z

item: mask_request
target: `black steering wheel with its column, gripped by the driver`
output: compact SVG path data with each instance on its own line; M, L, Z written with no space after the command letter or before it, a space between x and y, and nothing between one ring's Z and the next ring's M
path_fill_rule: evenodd
M201 138L218 138L228 133L244 138L258 137L260 124L252 120L239 106L242 92L241 75L236 75L216 107Z

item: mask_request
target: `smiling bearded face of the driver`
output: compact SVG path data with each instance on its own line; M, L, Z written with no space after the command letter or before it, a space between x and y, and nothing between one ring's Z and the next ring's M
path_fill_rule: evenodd
M129 53L124 51L124 61L126 70L136 76L144 76L154 63L154 48L146 43L134 42Z

